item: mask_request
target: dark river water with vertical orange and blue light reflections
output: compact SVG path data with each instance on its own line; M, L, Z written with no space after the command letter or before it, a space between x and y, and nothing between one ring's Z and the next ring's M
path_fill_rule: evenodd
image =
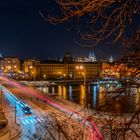
M125 93L121 93L119 96L115 92L112 93L119 87L121 87L120 84L108 83L105 85L88 85L86 90L83 85L53 85L41 87L40 89L44 93L55 94L62 99L88 106L92 109L126 113L140 109L138 104L140 101L139 89L135 87L126 88Z

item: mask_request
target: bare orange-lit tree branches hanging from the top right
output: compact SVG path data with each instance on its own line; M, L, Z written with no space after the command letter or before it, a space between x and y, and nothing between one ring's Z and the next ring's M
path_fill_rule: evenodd
M116 42L129 28L135 27L134 19L140 18L139 0L55 0L60 8L57 16L40 15L52 24L77 19L77 31L92 47L103 40Z

